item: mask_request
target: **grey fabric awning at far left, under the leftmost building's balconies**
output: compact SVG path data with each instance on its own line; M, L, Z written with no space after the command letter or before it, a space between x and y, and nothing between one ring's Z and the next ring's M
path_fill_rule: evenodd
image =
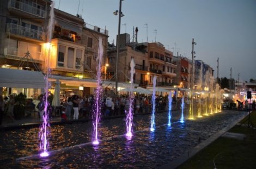
M0 87L43 89L44 75L42 72L0 68Z

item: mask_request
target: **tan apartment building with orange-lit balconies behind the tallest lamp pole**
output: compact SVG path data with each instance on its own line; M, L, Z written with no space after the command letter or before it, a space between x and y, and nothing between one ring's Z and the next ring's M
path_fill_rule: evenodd
M124 39L122 39L124 38ZM130 43L129 34L120 35L120 51L118 64L118 82L129 82L130 61L135 60L134 82L142 87L153 85L153 77L157 77L157 86L170 87L176 76L176 65L172 61L173 53L157 43ZM108 51L109 67L107 72L110 78L115 79L115 58L117 49Z

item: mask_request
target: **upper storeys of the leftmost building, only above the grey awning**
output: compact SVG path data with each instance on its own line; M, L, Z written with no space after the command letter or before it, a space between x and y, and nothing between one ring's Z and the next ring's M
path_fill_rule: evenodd
M1 8L1 66L36 70L44 65L44 43L51 1L4 0ZM29 53L27 53L29 52ZM27 61L26 66L22 61ZM36 66L34 66L33 62Z

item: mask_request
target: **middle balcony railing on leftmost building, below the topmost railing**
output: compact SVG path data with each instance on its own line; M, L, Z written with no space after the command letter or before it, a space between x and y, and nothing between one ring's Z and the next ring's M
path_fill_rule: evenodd
M17 24L7 23L7 33L15 34L23 37L28 37L35 40L44 41L45 33L39 30L34 30L26 27L22 27Z

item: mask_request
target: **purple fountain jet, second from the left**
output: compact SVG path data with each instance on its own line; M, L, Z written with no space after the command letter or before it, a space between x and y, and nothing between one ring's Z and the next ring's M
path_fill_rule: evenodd
M93 145L99 144L99 122L100 122L100 112L101 112L101 61L103 56L103 46L102 46L102 37L99 37L99 49L97 55L97 89L96 89L96 98L94 103L93 111Z

